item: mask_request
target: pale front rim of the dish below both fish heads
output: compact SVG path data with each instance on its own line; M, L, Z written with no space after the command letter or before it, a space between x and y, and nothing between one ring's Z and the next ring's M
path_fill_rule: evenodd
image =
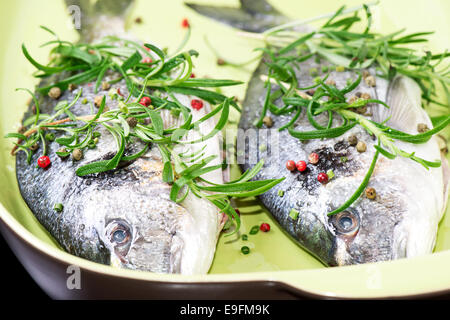
M315 269L305 269L305 270L282 270L282 271L258 271L258 272L245 272L245 273L220 273L220 274L205 274L205 275L179 275L179 274L157 274L151 272L142 272L136 270L127 269L116 269L111 266L102 265L87 259L83 259L72 255L70 253L64 252L56 247L45 243L38 237L36 237L32 232L27 230L19 221L16 220L6 208L0 203L0 219L5 223L5 225L17 236L20 237L28 246L33 247L35 250L39 251L41 254L49 256L52 259L57 260L60 263L67 265L76 265L82 269L88 270L93 273L98 273L111 277L120 277L126 279L140 280L145 282L167 282L170 284L176 283L232 283L232 282L272 282L279 284L287 289L291 290L293 293L298 295L308 295L312 298L325 298L325 299L385 299L385 298L424 298L435 295L446 294L450 292L450 277L447 281L441 281L441 286L439 288L417 288L409 289L402 292L405 288L400 289L381 289L376 293L367 289L365 294L349 294L339 292L340 290L336 288L312 288L311 284L299 284L292 280L292 277L299 277L303 275L303 278L313 277L322 278L323 275L328 276L330 274L335 274L337 276L348 276L349 274L355 275L354 272L361 273L360 269L370 270L380 270L381 275L386 274L386 272L391 272L390 268L393 267L394 271L400 264L420 264L420 263L432 263L433 260L438 262L450 261L450 250L443 252L436 252L429 255L410 258L410 259L399 259L394 261L369 263L363 265L354 266L344 266L336 268L315 268ZM415 260L415 261L414 261ZM442 261L441 261L442 260ZM436 261L434 261L436 262ZM400 266L401 267L401 266ZM387 269L387 270L386 270ZM364 272L364 271L362 271ZM320 274L318 276L317 274ZM301 279L300 279L301 280ZM301 281L300 281L301 282ZM366 279L367 282L367 279ZM419 281L419 284L420 281ZM422 281L423 286L423 281ZM419 286L420 287L420 286Z

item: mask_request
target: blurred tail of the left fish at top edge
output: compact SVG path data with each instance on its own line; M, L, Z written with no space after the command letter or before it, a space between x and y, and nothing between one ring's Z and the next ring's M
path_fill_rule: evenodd
M91 42L125 32L125 19L135 0L65 0L81 39Z

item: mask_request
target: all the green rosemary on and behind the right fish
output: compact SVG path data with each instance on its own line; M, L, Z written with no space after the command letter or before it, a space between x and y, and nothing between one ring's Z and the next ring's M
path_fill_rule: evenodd
M405 46L426 42L426 36L431 34L430 32L407 35L403 35L404 30L389 35L372 33L369 7L369 5L363 5L350 11L341 7L331 17L327 17L328 20L322 27L306 34L290 30L298 25L297 22L272 28L262 34L241 33L247 37L261 39L266 45L259 50L265 54L264 63L267 65L268 74L263 75L261 79L265 82L267 90L255 126L261 127L262 119L270 111L276 116L290 115L291 120L278 130L288 130L290 135L300 140L336 138L356 125L364 128L378 140L378 144L374 146L375 155L362 183L345 203L328 213L330 216L347 209L359 199L369 183L380 154L389 159L395 159L398 156L409 158L426 169L439 167L440 160L422 159L414 152L408 153L401 150L395 141L425 143L450 123L447 112L439 118L437 123L434 123L433 129L411 135L390 128L385 123L377 123L357 112L358 108L368 104L378 104L379 107L389 108L385 102L377 99L346 100L345 94L358 87L362 79L361 70L375 67L378 76L389 80L396 74L403 74L414 79L422 90L425 102L447 107L450 105L450 94L448 94L450 65L442 67L450 53L447 51L441 54L421 53ZM363 32L352 31L354 25L361 21L358 16L360 11L365 13L367 24L363 27ZM299 68L300 62L314 56L341 68L354 70L358 73L358 78L350 81L346 87L338 89L332 84L327 84L326 79L329 74L323 71L325 75L322 78L316 78L311 86L299 88L294 70ZM436 83L440 83L447 93L447 103L436 101ZM314 89L314 93L309 95L304 92L309 89ZM276 100L281 100L283 105L276 106ZM295 130L295 122L302 110L306 111L306 117L315 130ZM321 114L328 117L326 126L315 120L315 117ZM342 120L339 126L333 126L336 118Z

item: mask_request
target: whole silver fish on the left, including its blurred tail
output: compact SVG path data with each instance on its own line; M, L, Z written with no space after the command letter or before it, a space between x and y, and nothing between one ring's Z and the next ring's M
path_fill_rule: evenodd
M83 1L68 1L78 4L88 12L86 19L99 9L92 8ZM132 1L97 1L96 6L114 8L113 17L117 21L117 7L123 8ZM114 4L115 3L115 4ZM107 9L103 8L108 12ZM103 10L102 9L102 10ZM91 12L92 11L92 12ZM104 12L102 11L102 12ZM110 21L108 17L97 16L97 20L87 23L84 39L123 33L122 24L118 29L102 29L94 21ZM95 30L92 36L89 30ZM108 74L106 80L117 77ZM44 80L40 86L57 82L58 79ZM82 90L82 98L71 108L75 116L92 115L97 112L92 102L97 96L106 97L107 107L118 108L117 100L111 99L107 90L94 92L92 83L78 86L75 90L66 90L55 100L48 96L37 95L41 114L52 114L54 107L61 101L73 101ZM127 86L124 80L114 85L115 89L126 97ZM211 111L205 101L201 110L193 110L190 102L195 97L175 94L175 98L191 110L193 121L204 117ZM83 103L86 99L90 103ZM32 116L31 105L24 119ZM164 127L178 124L182 119L169 111L162 111ZM191 130L185 139L196 140L209 133L215 126L215 120L209 119ZM51 157L51 166L45 170L34 165L41 155L38 149L27 162L23 152L17 154L16 172L20 192L39 222L56 239L67 252L79 257L112 265L119 268L135 269L157 273L202 274L207 273L212 263L218 235L222 229L223 214L209 201L196 197L192 193L180 203L170 200L170 185L163 181L163 161L156 144L150 145L148 152L132 162L121 163L113 171L90 174L79 177L77 168L99 160L111 159L117 153L117 143L110 132L103 126L96 129L101 136L97 147L87 150L80 161L72 157L62 159L56 156L61 147L56 142L47 144L47 154ZM58 131L56 138L64 134ZM218 165L220 160L219 135L206 142L188 145L184 152L199 152L205 156L217 156L211 165ZM132 140L126 146L126 154L131 155L142 150L142 141ZM42 149L42 145L40 146ZM203 175L209 181L223 183L222 170L215 170ZM58 212L55 204L62 204Z

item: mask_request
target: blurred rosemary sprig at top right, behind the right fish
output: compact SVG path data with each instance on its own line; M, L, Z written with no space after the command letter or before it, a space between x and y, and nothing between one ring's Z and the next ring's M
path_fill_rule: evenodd
M448 107L450 64L447 58L450 52L432 54L429 51L407 47L410 44L426 44L428 42L426 37L433 32L404 34L405 29L388 35L371 32L371 5L373 4L348 11L342 6L322 27L307 34L291 30L298 24L294 22L269 29L262 34L247 32L241 35L260 39L268 48L277 47L278 55L292 54L293 50L297 50L300 54L294 58L295 60L317 54L347 69L376 67L377 75L389 80L396 74L406 75L419 84L422 97L427 104L435 103ZM360 12L367 18L367 23L362 27L359 26L364 32L352 31L352 28L362 21L359 17ZM306 49L309 50L308 54L301 54ZM446 103L436 100L438 84L446 93Z

